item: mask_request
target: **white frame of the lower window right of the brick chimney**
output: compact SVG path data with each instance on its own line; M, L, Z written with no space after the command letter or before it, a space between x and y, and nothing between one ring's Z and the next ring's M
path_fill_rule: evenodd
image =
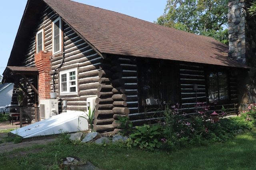
M70 80L70 72L75 72L76 79ZM62 75L66 74L66 81L62 81ZM72 68L68 70L63 70L59 72L59 82L60 82L60 94L78 94L78 74L77 74L77 68ZM75 84L72 84L72 82L75 82ZM67 90L63 91L62 87L63 84L66 85ZM70 88L76 88L75 92L71 92Z

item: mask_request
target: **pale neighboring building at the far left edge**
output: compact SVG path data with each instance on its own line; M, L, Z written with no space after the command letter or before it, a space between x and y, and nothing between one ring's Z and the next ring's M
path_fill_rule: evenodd
M0 106L10 105L12 102L14 83L0 84Z

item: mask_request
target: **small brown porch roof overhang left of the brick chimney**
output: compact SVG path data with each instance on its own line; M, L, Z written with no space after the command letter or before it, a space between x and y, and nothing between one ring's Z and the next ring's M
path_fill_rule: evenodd
M16 82L16 79L37 76L36 67L7 66L3 73L2 84Z

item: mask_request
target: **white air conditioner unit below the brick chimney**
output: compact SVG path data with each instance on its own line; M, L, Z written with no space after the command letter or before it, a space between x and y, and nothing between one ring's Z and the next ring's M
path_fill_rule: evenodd
M58 115L58 99L44 99L40 100L40 117L47 119L49 117Z

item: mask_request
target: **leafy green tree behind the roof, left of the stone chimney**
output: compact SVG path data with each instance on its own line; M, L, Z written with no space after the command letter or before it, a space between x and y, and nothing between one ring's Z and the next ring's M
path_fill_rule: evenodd
M228 44L228 0L168 0L155 23ZM224 29L226 28L226 29Z

